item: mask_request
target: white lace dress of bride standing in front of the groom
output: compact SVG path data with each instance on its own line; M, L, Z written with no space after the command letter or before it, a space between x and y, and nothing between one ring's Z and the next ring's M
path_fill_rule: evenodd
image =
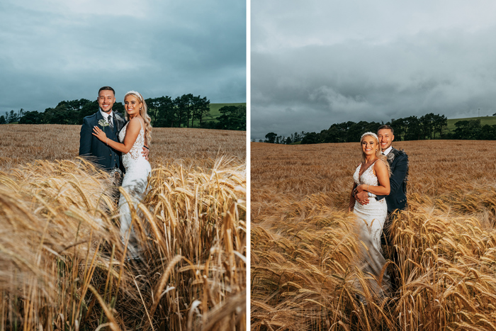
M379 162L382 162L378 160ZM376 161L377 162L377 161ZM356 185L366 184L370 186L377 186L379 181L377 176L373 174L374 162L368 169L366 169L361 176L361 164L356 168L353 179ZM361 205L358 201L355 202L353 212L358 218L359 223L359 239L363 241L367 249L363 245L361 248L362 268L364 273L371 274L375 279L379 280L381 271L385 264L383 251L381 248L381 233L385 218L388 215L388 206L385 198L377 201L376 198L369 198L369 203ZM382 290L387 291L389 284L389 277L386 273L383 275ZM371 287L376 294L383 295L383 291L379 288L377 281L371 281Z

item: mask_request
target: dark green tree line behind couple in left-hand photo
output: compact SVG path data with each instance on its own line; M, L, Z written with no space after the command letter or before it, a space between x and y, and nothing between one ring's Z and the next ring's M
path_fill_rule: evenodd
M210 128L221 130L246 130L246 106L224 106L220 116L210 115L210 100L206 96L184 94L172 99L170 96L145 99L148 115L155 128ZM113 110L124 113L122 102L115 102ZM0 124L72 124L81 125L83 118L98 111L98 101L79 99L60 101L55 108L45 111L6 112L0 116Z

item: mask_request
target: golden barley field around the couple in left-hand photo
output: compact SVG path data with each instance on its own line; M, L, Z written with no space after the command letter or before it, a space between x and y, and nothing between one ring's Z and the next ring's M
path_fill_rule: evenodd
M79 130L0 125L0 330L245 330L245 133L152 131L135 261Z

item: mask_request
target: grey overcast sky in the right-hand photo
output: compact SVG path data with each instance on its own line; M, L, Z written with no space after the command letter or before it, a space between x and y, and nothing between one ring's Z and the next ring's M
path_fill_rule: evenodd
M252 138L496 113L496 1L252 0Z

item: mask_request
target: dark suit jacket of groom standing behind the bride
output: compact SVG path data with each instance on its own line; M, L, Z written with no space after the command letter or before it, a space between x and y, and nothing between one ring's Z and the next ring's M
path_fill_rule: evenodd
M391 169L389 178L391 191L388 196L377 196L377 199L381 200L385 197L388 213L392 213L396 209L407 208L408 155L393 147L387 157Z

